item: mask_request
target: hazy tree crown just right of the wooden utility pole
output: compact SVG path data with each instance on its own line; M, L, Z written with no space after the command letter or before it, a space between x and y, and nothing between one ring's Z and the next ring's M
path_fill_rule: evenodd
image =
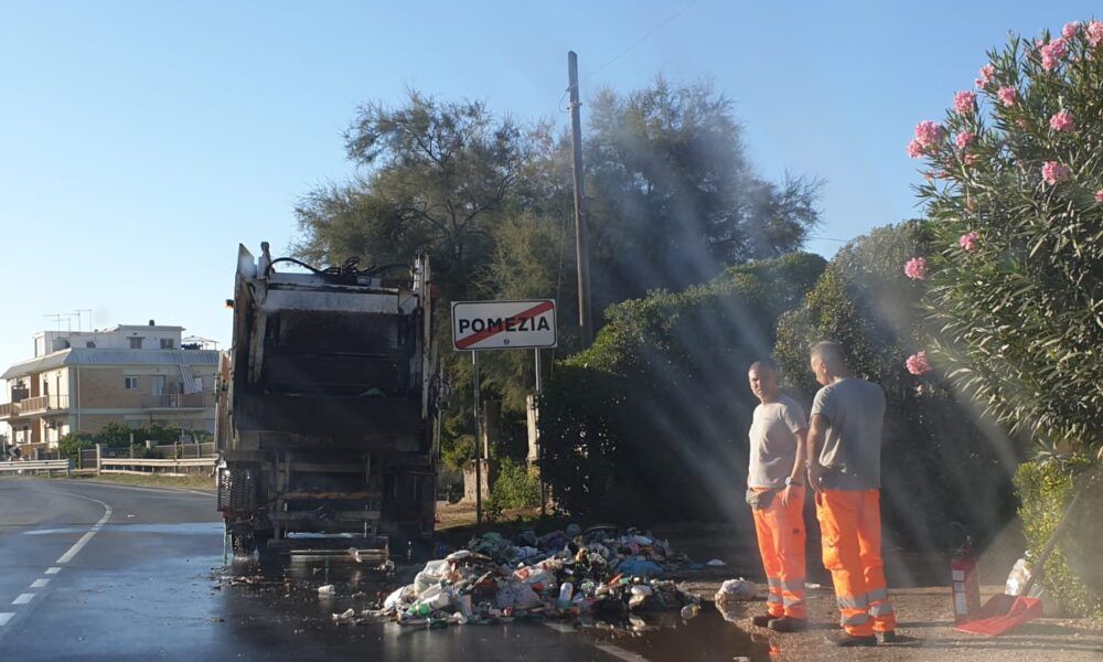
M593 100L586 142L595 291L602 303L683 289L800 248L818 182L754 173L731 102L662 76Z

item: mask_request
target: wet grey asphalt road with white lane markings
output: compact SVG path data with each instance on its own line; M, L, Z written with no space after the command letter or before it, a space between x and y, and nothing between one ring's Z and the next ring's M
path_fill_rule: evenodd
M769 659L715 611L644 637L540 622L339 626L331 613L366 607L346 597L371 591L356 569L225 560L212 495L0 479L0 660ZM324 581L335 598L319 599Z

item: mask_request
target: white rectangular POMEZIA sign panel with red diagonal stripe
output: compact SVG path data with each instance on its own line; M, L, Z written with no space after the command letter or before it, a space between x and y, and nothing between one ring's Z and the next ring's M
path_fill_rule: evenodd
M554 348L555 301L456 301L452 346L461 351Z

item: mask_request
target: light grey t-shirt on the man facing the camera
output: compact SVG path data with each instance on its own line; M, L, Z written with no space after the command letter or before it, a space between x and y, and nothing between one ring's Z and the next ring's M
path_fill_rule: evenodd
M754 407L747 487L785 487L785 479L793 472L793 462L796 461L794 433L807 427L804 408L788 395L782 394L775 403Z

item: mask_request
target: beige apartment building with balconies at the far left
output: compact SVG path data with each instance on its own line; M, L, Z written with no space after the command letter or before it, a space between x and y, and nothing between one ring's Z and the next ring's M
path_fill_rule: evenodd
M101 331L43 331L34 357L10 366L0 423L23 457L56 448L73 431L110 421L214 431L218 351L182 338L182 327L119 324Z

